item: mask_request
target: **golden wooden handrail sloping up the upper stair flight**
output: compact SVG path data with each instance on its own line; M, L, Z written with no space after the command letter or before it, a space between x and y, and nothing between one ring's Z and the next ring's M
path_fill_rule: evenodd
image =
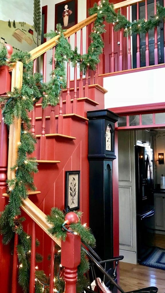
M133 4L137 3L137 2L142 2L142 1L144 1L144 0L126 0L126 1L114 4L114 8L118 9L120 7L126 7L128 5L133 5ZM85 20L79 22L78 24L73 25L71 28L68 28L68 30L64 33L65 37L66 38L70 37L74 33L78 32L78 30L80 30L81 28L84 28L88 24L90 24L93 21L95 21L96 18L97 18L97 13L93 14L92 16L89 16L88 18L86 18ZM46 51L52 49L57 44L58 38L59 38L59 35L57 35L56 37L48 40L47 42L45 42L42 45L36 47L35 49L31 50L29 53L32 56L32 60L34 60L37 57L41 56Z

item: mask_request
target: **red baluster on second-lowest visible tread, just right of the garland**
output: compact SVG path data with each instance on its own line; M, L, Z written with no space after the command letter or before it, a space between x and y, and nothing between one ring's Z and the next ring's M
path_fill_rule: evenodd
M46 52L43 54L43 82L46 82ZM46 147L46 136L45 136L46 116L45 109L42 108L42 131L40 140L40 160L44 159L45 147Z

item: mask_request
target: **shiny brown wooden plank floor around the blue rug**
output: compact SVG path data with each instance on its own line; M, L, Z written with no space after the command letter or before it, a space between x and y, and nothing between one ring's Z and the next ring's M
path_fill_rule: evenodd
M165 235L155 235L155 245L165 248ZM119 263L119 284L125 292L137 290L149 286L156 286L159 293L165 293L165 271L133 265L131 263Z

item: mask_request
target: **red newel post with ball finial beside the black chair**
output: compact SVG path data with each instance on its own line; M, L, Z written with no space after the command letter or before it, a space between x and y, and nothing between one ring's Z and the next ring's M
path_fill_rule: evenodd
M78 222L77 214L66 214L65 220L70 223ZM65 293L76 293L77 267L81 259L80 236L67 233L66 240L61 241L61 265L64 267Z

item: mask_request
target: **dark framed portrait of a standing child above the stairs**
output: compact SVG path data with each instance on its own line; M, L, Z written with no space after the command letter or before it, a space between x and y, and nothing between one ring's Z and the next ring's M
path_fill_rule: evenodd
M77 24L77 1L67 0L55 4L55 30L57 23L60 23L63 29Z

